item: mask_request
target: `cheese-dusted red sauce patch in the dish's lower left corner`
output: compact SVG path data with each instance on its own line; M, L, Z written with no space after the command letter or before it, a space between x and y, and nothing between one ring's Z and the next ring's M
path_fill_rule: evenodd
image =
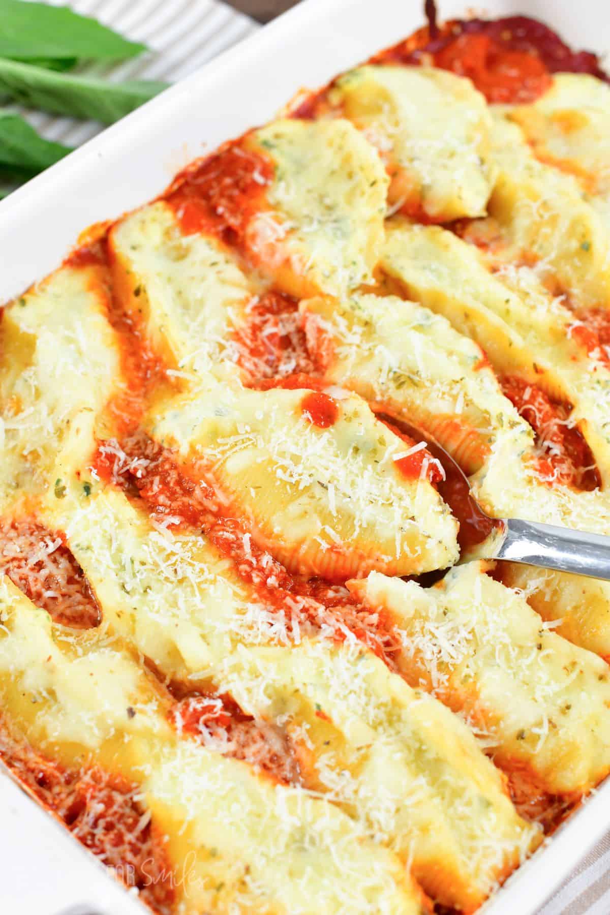
M0 722L1 724L1 722ZM175 879L164 837L143 823L136 801L140 787L119 776L84 766L68 769L0 727L0 759L26 790L54 813L79 842L98 856L157 915L170 915Z

